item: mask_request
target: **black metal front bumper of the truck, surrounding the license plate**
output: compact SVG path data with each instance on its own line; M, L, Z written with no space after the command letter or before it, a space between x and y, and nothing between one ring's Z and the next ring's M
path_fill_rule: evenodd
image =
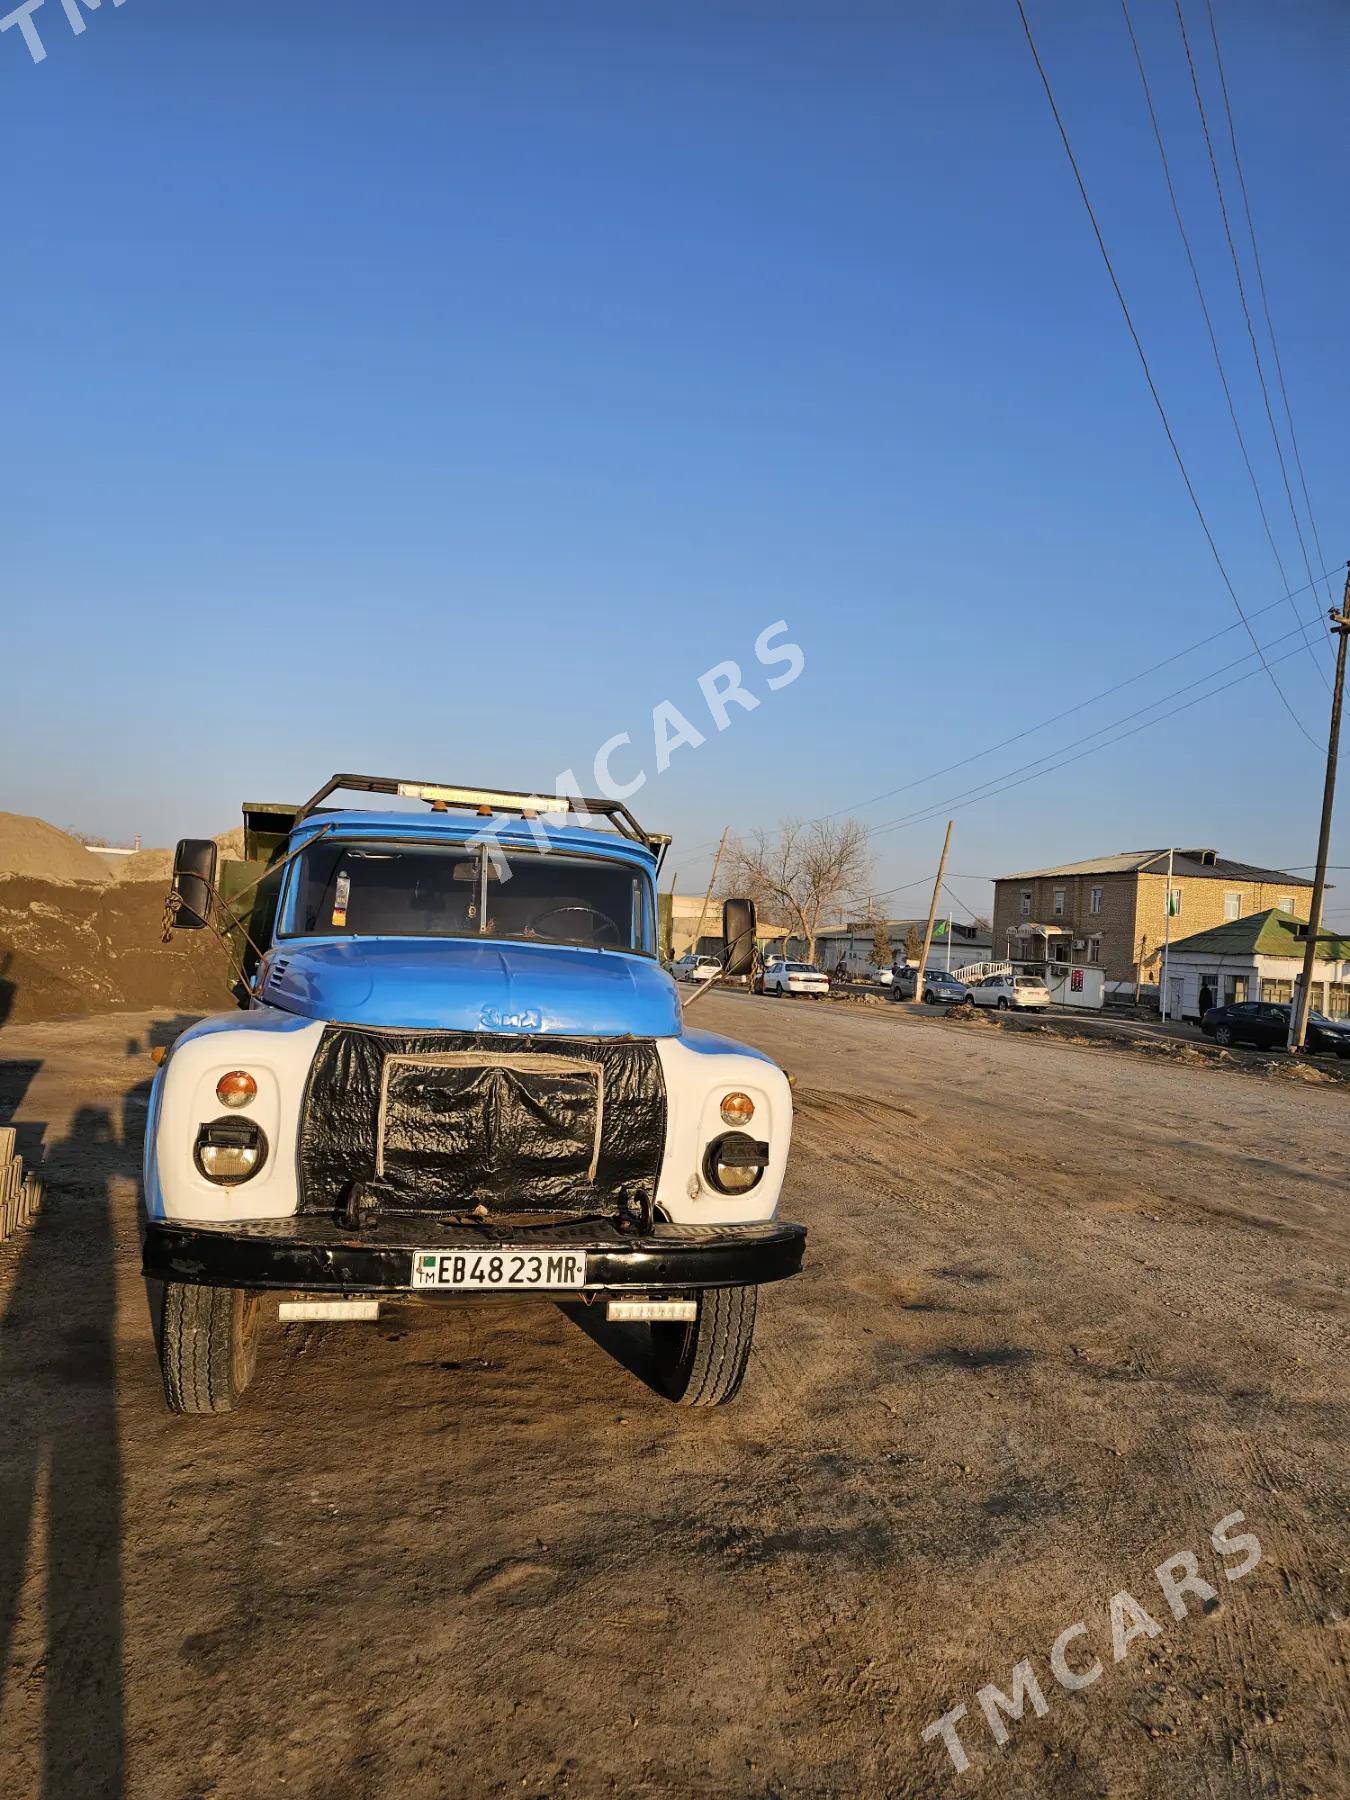
M198 1287L283 1289L311 1294L418 1294L418 1298L565 1298L547 1289L475 1289L445 1296L414 1289L418 1251L583 1249L585 1292L670 1294L700 1287L781 1282L801 1269L806 1228L767 1220L743 1226L657 1224L650 1233L578 1220L549 1226L437 1224L383 1219L355 1233L326 1217L238 1224L146 1226L142 1269L157 1282Z

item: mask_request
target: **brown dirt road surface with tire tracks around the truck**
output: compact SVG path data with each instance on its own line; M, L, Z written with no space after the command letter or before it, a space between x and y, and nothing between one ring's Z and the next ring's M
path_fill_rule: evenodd
M540 1305L274 1319L241 1411L167 1415L173 1021L0 1033L50 1179L0 1246L7 1800L1350 1793L1345 1089L698 1012L794 1071L812 1228L713 1413ZM1217 1589L1184 1618L1177 1552ZM1022 1658L999 1748L976 1696ZM961 1777L920 1735L958 1705Z

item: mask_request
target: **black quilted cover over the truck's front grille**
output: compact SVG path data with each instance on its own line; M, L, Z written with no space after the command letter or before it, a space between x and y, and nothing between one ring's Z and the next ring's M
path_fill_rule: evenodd
M301 1118L301 1211L353 1181L400 1211L610 1211L655 1193L666 1084L650 1039L328 1026Z

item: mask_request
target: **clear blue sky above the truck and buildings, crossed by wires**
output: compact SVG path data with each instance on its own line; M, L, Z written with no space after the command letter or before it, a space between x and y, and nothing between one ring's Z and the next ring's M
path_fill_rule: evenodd
M1215 5L1337 563L1350 13ZM1175 14L1132 11L1301 585ZM1030 13L1256 610L1282 585L1120 7ZM1188 20L1226 158L1201 0ZM677 833L688 887L724 824L909 783L857 815L940 808L1249 648L1238 626L920 781L1237 626L1013 0L126 0L81 36L45 0L34 23L41 65L0 36L0 806L164 842L338 767L535 787L628 731L632 805ZM776 619L806 666L770 695L752 644ZM727 657L763 704L657 776L652 707L707 731L697 679ZM1312 655L1276 673L1323 738ZM1256 675L963 806L952 868L1168 839L1307 864L1318 803ZM932 866L943 817L877 835L878 889Z

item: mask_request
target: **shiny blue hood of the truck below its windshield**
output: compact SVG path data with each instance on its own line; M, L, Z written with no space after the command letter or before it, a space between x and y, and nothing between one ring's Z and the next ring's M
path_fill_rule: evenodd
M428 1031L679 1037L659 963L614 950L464 938L279 943L257 999L306 1019Z

